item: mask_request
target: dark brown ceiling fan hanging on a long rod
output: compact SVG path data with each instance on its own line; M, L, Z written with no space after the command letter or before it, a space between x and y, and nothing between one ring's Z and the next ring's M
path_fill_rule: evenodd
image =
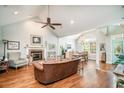
M47 17L47 22L37 22L37 23L41 23L44 24L41 28L44 28L46 26L49 26L50 28L52 28L53 30L55 30L54 26L61 26L61 23L52 23L51 22L51 18L49 17L49 5L48 5L48 17Z

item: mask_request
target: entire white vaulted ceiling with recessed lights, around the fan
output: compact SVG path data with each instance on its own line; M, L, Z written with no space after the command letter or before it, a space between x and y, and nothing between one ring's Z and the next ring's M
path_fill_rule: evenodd
M7 25L39 16L46 21L48 16L47 6L0 6L0 25ZM13 15L19 11L18 15ZM124 8L121 6L50 6L52 22L62 23L62 27L56 27L53 32L59 36L77 34L102 25L118 22L124 17ZM70 24L70 20L74 24Z

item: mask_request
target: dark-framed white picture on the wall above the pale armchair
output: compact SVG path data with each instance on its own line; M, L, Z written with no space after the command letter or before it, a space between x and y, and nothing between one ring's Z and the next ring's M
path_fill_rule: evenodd
M8 50L19 50L20 49L20 42L19 41L8 41L7 42L7 49Z

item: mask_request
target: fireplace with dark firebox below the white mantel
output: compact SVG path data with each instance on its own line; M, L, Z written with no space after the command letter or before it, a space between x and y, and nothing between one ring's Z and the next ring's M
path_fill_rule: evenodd
M44 51L42 49L30 49L29 55L32 61L43 60L44 58Z

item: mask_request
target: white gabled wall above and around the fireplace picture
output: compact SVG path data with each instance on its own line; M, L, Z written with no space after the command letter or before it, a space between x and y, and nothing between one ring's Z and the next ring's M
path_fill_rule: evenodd
M43 36L43 45L45 41L47 41L47 43L55 44L57 47L58 38L51 31L48 31L50 29L41 29L41 26L41 24L35 23L31 20L4 26L2 28L3 39L7 39L10 41L20 41L20 50L18 51L21 51L22 57L26 57L26 49L24 47L26 47L27 44L29 45L29 47L32 47L30 43L30 35Z

